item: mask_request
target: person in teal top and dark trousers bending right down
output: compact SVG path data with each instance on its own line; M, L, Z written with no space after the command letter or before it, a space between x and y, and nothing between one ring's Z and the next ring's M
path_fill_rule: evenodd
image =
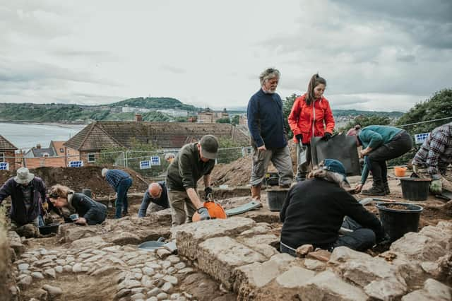
M357 131L358 145L362 146L359 157L364 158L361 182L355 191L368 196L384 196L389 194L388 167L386 160L398 158L412 148L412 138L403 129L394 126L371 125ZM372 172L373 183L370 189L362 190L369 171Z

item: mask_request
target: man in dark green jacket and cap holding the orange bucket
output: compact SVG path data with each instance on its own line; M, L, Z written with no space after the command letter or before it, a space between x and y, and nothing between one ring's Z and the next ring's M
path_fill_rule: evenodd
M210 219L207 208L196 193L196 183L203 177L207 199L212 192L210 172L215 166L217 155L217 138L206 135L199 142L183 146L169 165L166 183L173 226L186 223L186 218L191 221L195 211L198 211L201 220Z

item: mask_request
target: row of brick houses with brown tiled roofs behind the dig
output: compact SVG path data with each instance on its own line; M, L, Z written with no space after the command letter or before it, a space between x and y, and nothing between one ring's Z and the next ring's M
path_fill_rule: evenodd
M198 141L212 134L219 139L230 139L239 146L249 146L246 126L218 123L189 122L92 122L68 141L51 141L48 148L36 146L27 153L0 136L0 163L8 163L9 169L25 166L65 167L70 161L83 161L93 165L107 149L133 148L133 143L149 144L163 151L177 151L186 143Z

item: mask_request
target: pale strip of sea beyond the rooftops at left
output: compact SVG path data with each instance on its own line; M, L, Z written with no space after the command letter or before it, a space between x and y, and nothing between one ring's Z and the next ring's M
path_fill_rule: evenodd
M0 122L0 135L18 149L28 151L40 144L49 147L50 141L67 141L87 124L39 124Z

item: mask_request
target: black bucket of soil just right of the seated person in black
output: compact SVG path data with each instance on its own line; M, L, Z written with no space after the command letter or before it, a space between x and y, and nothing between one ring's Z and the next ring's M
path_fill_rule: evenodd
M405 209L391 208L393 205L403 206ZM389 235L391 242L403 237L405 233L417 232L422 207L412 203L377 203L381 224Z

